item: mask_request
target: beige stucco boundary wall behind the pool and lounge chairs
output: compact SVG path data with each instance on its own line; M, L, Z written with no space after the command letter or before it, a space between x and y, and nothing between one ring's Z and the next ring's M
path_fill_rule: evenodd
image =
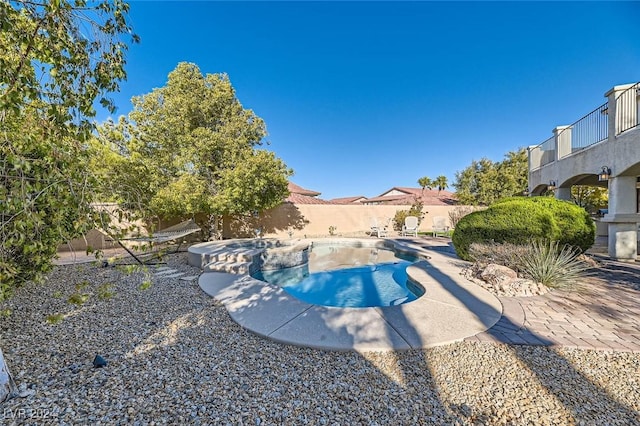
M330 205L330 204L282 204L261 215L257 221L225 221L224 237L254 236L255 229L262 228L265 237L308 237L329 235L329 227L336 228L337 235L364 235L371 228L373 218L378 223L393 219L398 210L411 206L396 205ZM425 206L420 231L429 231L434 216L449 220L449 212L459 206ZM391 226L391 235L395 232Z

